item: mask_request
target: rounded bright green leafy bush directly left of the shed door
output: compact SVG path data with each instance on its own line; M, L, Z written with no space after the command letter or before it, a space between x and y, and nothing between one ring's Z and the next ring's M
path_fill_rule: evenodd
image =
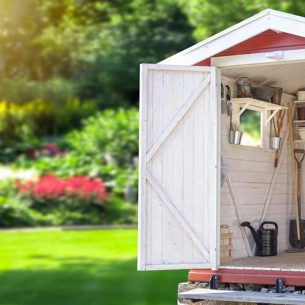
M67 136L78 154L120 167L130 164L132 157L138 155L138 110L106 110L84 120L83 124L81 131L72 131Z

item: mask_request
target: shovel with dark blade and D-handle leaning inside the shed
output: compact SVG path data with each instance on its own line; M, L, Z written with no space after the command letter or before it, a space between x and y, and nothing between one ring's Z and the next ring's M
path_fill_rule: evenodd
M294 149L294 158L298 163L298 216L300 224L300 240L297 236L297 224L295 219L290 219L289 224L289 243L293 248L303 249L305 247L305 220L301 219L301 163L305 157L304 149ZM303 153L303 158L299 160L296 158L296 153ZM302 252L305 250L301 250ZM298 252L297 249L294 252Z

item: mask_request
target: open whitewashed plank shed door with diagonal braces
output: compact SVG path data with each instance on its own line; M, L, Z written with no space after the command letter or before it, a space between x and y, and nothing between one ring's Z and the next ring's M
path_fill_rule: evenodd
M140 68L138 270L215 270L220 260L220 70Z

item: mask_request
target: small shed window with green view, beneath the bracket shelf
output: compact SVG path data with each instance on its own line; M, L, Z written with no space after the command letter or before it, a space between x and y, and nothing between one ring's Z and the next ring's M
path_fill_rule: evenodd
M246 109L239 118L242 134L241 145L262 147L262 117L263 113Z

